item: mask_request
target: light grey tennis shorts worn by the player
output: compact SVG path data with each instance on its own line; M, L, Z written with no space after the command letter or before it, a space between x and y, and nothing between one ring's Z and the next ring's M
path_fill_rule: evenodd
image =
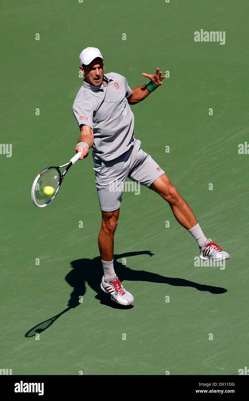
M95 182L101 210L112 212L119 209L127 177L149 188L165 173L140 146L141 141L134 139L134 145L116 159L94 159Z

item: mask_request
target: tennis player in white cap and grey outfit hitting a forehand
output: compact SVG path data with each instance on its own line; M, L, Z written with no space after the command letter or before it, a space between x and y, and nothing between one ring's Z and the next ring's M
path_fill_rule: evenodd
M131 89L122 75L113 72L104 74L104 59L100 50L87 47L80 53L80 71L85 78L73 102L73 114L81 132L76 152L82 152L82 160L92 148L102 211L98 236L104 269L101 289L111 294L118 304L130 305L134 302L133 296L120 283L113 266L113 239L127 177L157 192L169 203L178 223L198 242L201 259L215 262L229 259L227 252L204 235L186 201L157 162L141 149L141 141L134 137L134 115L130 105L144 100L163 84L165 76L159 68L153 75L142 73L149 81ZM114 183L118 183L116 190L113 190Z

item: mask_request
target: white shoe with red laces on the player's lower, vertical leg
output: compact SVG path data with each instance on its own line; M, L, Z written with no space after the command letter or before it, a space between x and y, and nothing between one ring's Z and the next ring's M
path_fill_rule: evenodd
M128 306L134 302L133 296L130 294L130 292L125 290L118 277L114 277L114 279L112 279L109 283L106 283L103 276L100 288L102 291L110 294L112 300L120 305Z

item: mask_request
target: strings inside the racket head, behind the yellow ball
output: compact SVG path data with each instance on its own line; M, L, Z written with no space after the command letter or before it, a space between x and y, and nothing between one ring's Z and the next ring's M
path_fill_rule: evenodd
M60 184L60 180L61 173L54 167L49 168L48 170L43 172L43 174L41 174L34 188L35 201L39 206L45 205L50 201L50 199L53 197L54 192L57 190L57 187ZM53 187L53 194L46 195L44 193L44 188L46 186Z

